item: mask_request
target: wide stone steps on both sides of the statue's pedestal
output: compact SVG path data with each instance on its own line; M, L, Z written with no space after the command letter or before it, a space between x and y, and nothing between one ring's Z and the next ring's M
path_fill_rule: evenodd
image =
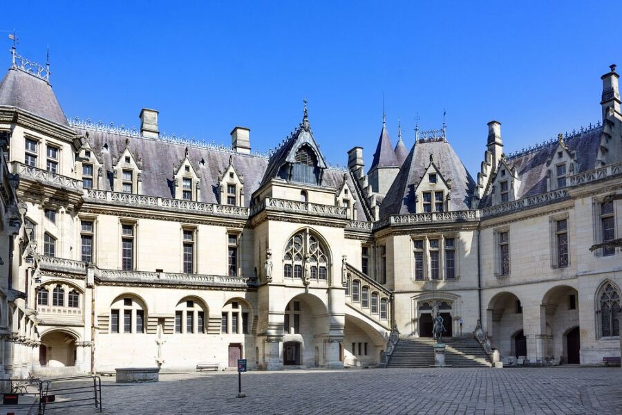
M474 338L444 338L445 365L449 367L491 367L491 362ZM432 338L400 338L387 367L433 367Z

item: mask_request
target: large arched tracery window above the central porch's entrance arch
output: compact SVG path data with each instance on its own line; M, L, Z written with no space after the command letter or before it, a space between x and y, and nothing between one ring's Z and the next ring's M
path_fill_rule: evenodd
M302 279L305 259L309 266L309 279L328 280L328 250L308 230L294 234L285 246L283 254L283 277Z

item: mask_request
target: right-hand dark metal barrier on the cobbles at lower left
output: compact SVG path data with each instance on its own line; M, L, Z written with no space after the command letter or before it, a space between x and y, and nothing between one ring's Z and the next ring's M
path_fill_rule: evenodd
M102 412L102 379L72 376L39 381L39 415L57 409L91 406Z

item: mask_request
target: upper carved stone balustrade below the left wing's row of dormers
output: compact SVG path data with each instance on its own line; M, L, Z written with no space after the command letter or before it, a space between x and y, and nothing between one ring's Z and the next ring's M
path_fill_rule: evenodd
M146 196L143 194L108 192L106 190L84 190L83 199L87 203L135 206L147 209L226 216L236 219L246 219L249 212L249 209L243 206L218 205L217 203L167 199L163 197Z

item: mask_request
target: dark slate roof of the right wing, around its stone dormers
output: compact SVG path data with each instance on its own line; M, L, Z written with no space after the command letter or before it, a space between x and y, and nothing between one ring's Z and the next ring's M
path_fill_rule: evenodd
M575 173L594 169L602 131L602 127L595 127L565 138L564 142L569 151L574 154L578 164L574 166ZM516 167L518 172L520 180L518 198L547 192L547 169L549 167L547 161L554 156L557 147L558 140L551 140L534 151L524 151L507 158L506 163L509 167ZM490 199L489 197L484 198L480 206L490 205Z

